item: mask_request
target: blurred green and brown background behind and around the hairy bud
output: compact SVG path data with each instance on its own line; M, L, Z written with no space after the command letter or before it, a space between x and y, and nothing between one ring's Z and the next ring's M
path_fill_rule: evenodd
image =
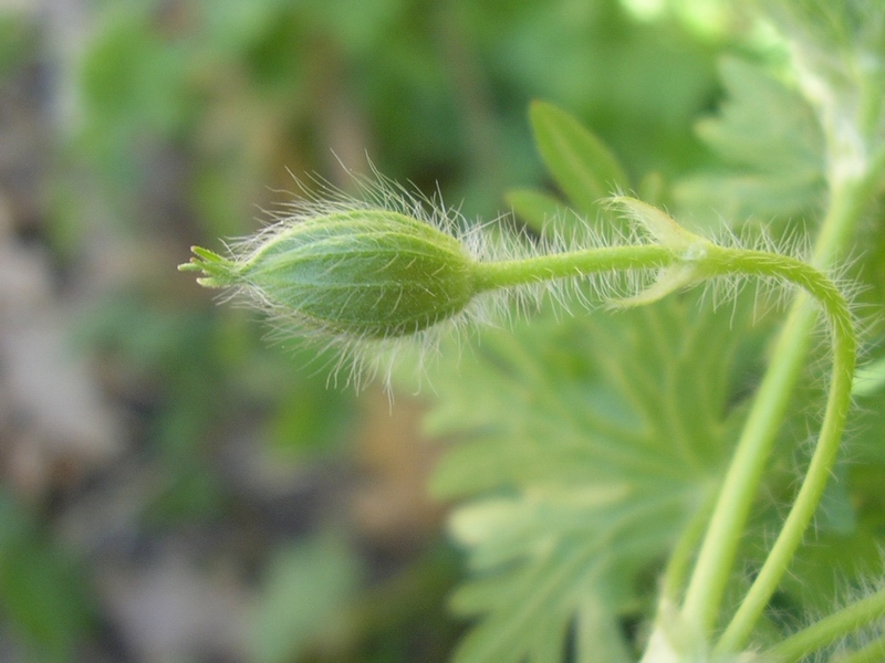
M368 158L493 218L545 186L533 98L678 177L745 30L705 0L0 0L0 661L446 660L423 401L327 388L176 265Z

